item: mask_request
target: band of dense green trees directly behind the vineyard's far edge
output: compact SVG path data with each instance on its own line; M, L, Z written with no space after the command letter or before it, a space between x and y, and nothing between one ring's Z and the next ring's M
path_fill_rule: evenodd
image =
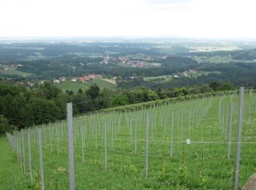
M52 83L28 89L0 81L0 134L11 129L65 119L67 102L73 103L74 115L80 115L109 107L233 89L232 84L217 82L183 88L158 88L156 91L138 88L114 92L94 85L85 91L79 89L74 94L72 91L62 93Z

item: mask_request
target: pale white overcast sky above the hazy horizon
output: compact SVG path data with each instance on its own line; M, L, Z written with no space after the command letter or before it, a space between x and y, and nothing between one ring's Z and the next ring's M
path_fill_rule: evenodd
M255 0L0 0L0 37L256 38Z

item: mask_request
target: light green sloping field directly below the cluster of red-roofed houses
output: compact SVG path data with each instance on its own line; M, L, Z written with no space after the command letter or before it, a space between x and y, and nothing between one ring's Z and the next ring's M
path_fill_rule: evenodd
M63 81L59 84L56 84L63 92L66 92L66 90L73 91L75 94L78 93L79 88L81 88L83 91L86 91L90 86L94 85L94 83L99 86L99 88L108 88L110 90L115 91L117 85L110 83L106 80L102 79L94 79L92 82L86 82L86 83L78 83L78 82L72 82L70 80Z

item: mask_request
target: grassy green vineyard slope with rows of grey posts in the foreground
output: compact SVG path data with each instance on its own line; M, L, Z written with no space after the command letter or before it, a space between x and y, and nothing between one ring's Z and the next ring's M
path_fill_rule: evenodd
M233 189L237 145L241 188L256 166L256 94L246 90L239 103L238 92L170 100L75 117L72 131L59 121L7 138L28 189L69 189L72 173L75 189Z

